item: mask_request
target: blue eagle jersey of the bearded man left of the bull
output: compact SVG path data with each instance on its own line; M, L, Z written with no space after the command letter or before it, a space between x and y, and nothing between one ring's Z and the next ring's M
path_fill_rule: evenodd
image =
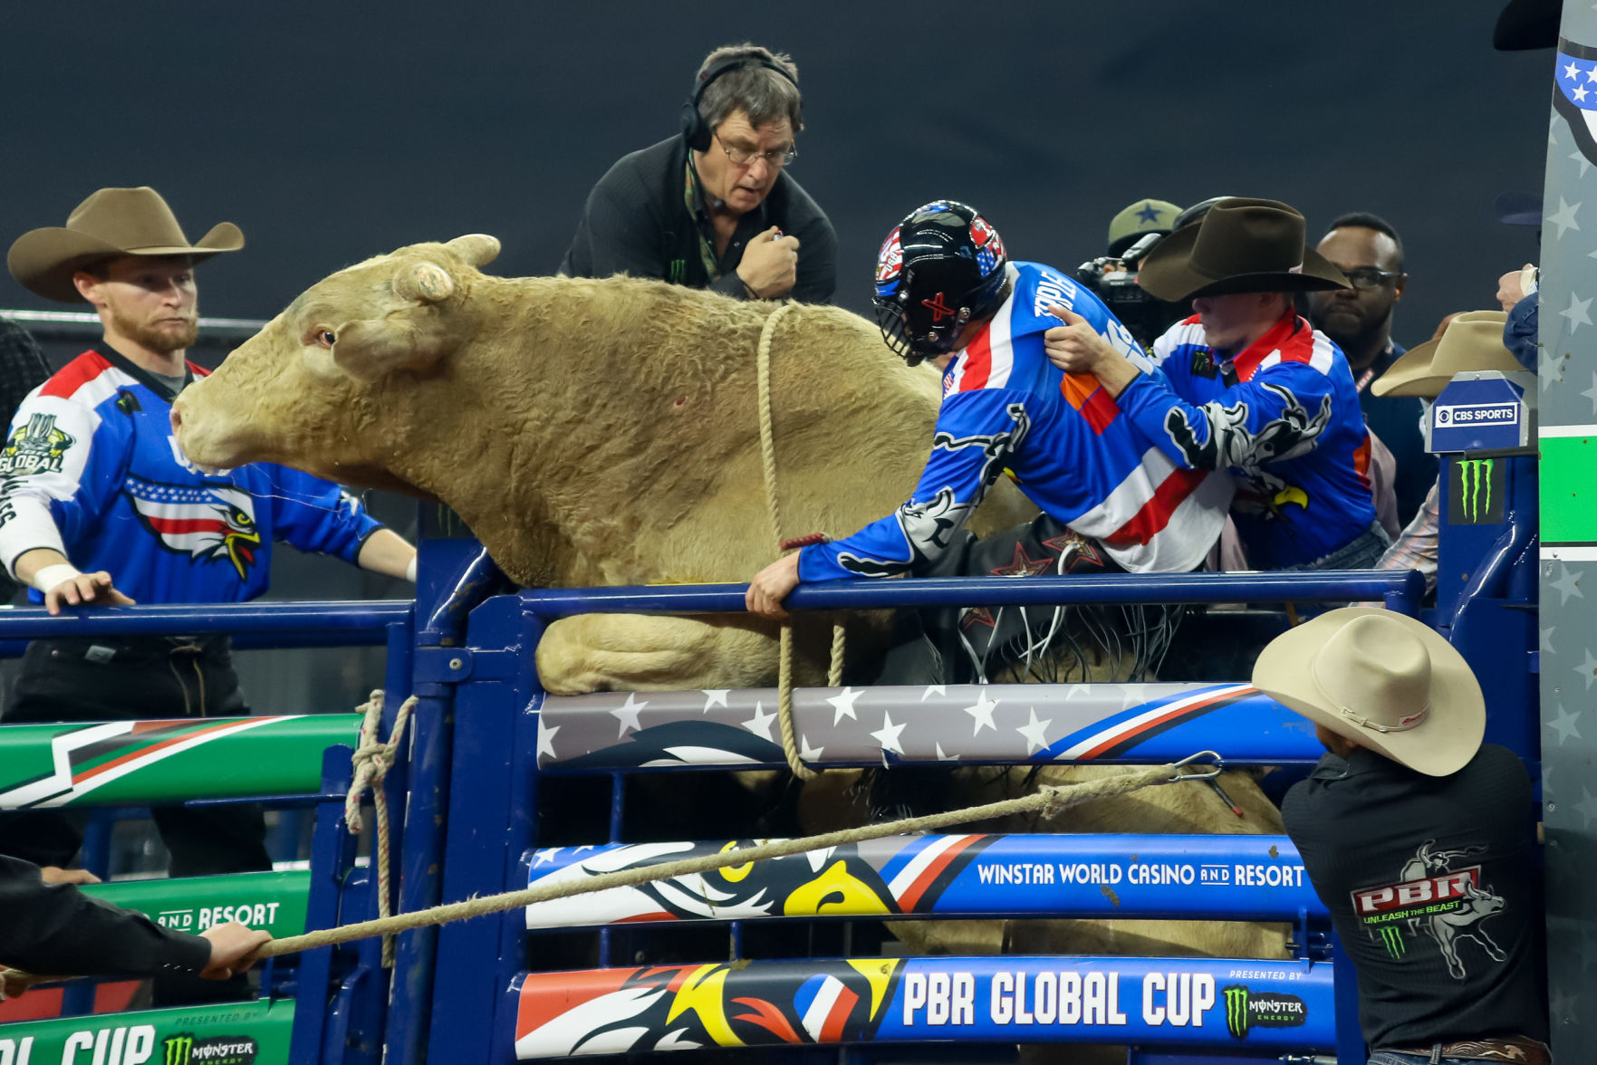
M29 393L0 450L6 568L54 548L141 604L243 602L267 591L273 540L355 562L382 527L307 473L201 473L177 447L168 390L117 353L85 351Z

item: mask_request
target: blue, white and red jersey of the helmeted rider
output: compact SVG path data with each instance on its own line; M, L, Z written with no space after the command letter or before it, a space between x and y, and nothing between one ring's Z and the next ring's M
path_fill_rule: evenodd
M1131 572L1191 570L1219 538L1230 481L1179 466L1092 377L1062 374L1043 351L1043 334L1060 324L1048 310L1057 305L1158 374L1131 332L1060 271L1033 262L1008 270L1009 297L944 370L931 457L913 495L845 540L805 548L800 580L893 576L936 559L1006 471L1043 511Z

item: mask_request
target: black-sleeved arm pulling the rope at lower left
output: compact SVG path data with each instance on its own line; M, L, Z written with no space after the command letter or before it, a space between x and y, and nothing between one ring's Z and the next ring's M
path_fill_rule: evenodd
M198 972L225 979L249 968L249 958L271 939L236 923L206 936L161 928L72 885L46 885L37 865L5 856L0 915L0 960L50 976Z

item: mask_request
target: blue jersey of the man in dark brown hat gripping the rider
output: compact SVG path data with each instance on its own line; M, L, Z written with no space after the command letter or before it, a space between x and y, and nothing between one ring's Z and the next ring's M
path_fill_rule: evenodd
M1359 393L1326 334L1286 315L1226 358L1195 315L1153 343L1151 359L1163 375L1127 385L1121 410L1182 466L1231 471L1250 565L1324 559L1375 521Z

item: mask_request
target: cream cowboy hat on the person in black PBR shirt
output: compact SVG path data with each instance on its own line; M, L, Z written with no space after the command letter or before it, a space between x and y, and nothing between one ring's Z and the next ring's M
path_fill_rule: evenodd
M1464 768L1487 726L1480 683L1436 629L1343 607L1282 632L1254 687L1316 725L1428 776Z

